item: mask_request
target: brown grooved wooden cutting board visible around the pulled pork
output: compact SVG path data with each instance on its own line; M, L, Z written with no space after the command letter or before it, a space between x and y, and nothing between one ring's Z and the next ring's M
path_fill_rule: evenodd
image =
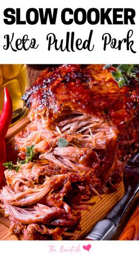
M7 161L14 160L16 152L14 150L14 136L17 132L21 131L22 128L28 124L29 119L26 117L19 121L14 127L9 128L8 134L6 135L6 151ZM102 195L102 199L98 196L94 196L91 202L95 202L94 206L89 206L89 211L82 211L81 229L82 231L75 232L75 236L69 237L69 239L84 239L85 235L91 231L92 226L100 219L104 218L108 212L114 207L115 203L121 199L124 194L123 182L117 185L117 191L108 195ZM133 202L128 207L127 212L121 220L120 226L117 230L117 234L113 239L118 239L124 226L127 224L128 219L133 213L135 206L137 205L138 195L135 196ZM19 240L18 236L9 234L8 232L9 220L4 217L4 213L0 210L0 240Z

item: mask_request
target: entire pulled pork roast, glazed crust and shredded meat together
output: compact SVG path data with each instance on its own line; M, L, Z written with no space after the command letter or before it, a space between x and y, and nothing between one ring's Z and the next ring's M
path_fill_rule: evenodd
M111 69L49 68L23 96L31 122L15 147L24 159L34 145L35 159L18 173L5 171L0 200L10 230L24 239L62 239L80 229L87 201L114 189L138 147L138 83L120 89Z

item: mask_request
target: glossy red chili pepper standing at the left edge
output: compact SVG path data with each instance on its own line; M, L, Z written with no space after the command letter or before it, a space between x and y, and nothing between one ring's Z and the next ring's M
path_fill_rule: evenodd
M12 100L8 89L4 88L4 106L0 114L0 183L4 177L5 167L2 165L6 161L5 136L12 119Z

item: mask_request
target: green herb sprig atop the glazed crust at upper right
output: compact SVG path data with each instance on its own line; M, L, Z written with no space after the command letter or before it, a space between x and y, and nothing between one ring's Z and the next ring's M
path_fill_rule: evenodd
M104 69L109 69L110 67L117 67L117 71L112 70L111 75L120 88L124 85L129 85L128 77L134 77L135 80L139 81L139 77L137 77L139 64L107 64Z

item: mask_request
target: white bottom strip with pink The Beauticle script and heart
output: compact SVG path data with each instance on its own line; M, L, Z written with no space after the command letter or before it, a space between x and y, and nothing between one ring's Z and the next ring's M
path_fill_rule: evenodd
M4 241L1 253L11 256L137 255L138 241Z

